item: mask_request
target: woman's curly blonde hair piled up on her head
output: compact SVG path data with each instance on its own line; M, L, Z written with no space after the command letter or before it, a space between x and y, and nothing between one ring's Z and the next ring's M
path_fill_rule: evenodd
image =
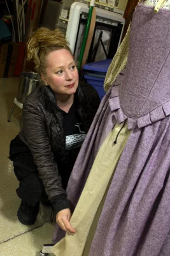
M39 76L46 76L46 55L59 49L66 49L72 54L62 31L38 28L27 41L27 60L34 61Z

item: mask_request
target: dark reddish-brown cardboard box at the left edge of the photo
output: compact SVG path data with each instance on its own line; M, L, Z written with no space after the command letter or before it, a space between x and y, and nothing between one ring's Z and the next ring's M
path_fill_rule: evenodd
M8 43L0 46L0 77L13 77L18 58L16 43Z

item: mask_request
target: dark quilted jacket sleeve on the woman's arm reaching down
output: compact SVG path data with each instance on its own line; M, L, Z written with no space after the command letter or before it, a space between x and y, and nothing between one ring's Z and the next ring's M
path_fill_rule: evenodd
M52 201L58 195L66 195L66 191L62 188L57 163L53 159L42 111L31 102L25 102L22 115L23 129L39 177L43 181L49 200Z

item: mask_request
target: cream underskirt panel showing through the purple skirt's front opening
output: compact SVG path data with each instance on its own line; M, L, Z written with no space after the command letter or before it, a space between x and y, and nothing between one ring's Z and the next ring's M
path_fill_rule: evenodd
M116 124L101 145L70 220L71 226L76 228L76 234L66 234L59 243L53 246L52 252L56 256L89 255L110 182L131 134L131 131L127 129L127 124L122 127L123 124Z

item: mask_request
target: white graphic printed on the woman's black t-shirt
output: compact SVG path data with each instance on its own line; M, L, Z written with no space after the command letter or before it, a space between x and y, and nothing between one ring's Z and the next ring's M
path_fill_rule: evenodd
M66 150L81 147L83 141L85 140L86 134L84 131L81 131L80 125L81 124L75 124L80 133L66 136Z

